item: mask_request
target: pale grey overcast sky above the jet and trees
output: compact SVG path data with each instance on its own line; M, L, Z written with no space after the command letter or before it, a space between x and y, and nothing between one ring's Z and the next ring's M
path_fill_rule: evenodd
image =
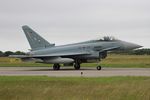
M102 35L150 48L150 0L0 0L0 51L28 51L28 25L62 45Z

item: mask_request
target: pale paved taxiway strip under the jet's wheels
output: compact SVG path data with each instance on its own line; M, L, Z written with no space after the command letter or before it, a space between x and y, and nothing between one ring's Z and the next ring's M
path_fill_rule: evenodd
M51 76L51 77L109 77L109 76L150 76L150 68L102 68L61 67L54 71L51 67L0 67L0 76Z

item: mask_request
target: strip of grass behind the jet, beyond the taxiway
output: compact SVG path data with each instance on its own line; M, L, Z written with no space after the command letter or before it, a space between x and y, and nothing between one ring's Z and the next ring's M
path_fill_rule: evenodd
M150 68L150 56L149 55L108 55L108 57L100 63L103 67L137 67L137 68ZM37 64L26 63L19 59L14 58L0 58L0 66L52 66L51 64ZM81 66L95 67L96 63L86 63Z

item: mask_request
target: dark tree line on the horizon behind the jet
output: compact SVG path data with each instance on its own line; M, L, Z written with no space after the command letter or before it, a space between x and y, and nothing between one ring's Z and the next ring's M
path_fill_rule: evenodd
M0 57L8 57L9 55L25 55L25 52L22 51L0 51ZM127 55L150 55L150 49L138 49L132 51L112 51L110 54L127 54Z

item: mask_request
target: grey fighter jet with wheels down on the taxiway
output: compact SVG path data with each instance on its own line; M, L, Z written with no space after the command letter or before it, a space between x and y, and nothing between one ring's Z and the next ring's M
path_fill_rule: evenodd
M23 61L35 61L53 64L54 70L60 69L60 64L73 65L76 70L80 69L81 63L95 63L105 59L108 51L133 50L142 46L104 36L97 40L89 40L80 43L55 46L49 43L27 25L22 29L30 44L31 50L26 55L10 55L10 57L21 58ZM97 70L101 70L98 65Z

